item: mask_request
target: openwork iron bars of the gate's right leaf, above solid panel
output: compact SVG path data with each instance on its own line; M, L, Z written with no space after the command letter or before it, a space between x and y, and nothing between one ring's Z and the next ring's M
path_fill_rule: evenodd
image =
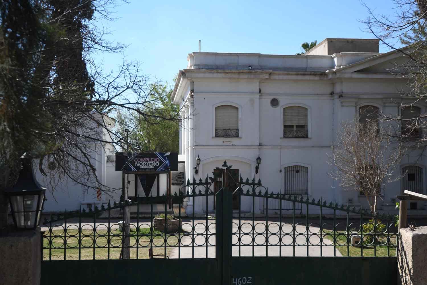
M237 256L395 256L398 233L395 217L392 215L371 215L367 209L339 206L321 199L275 194L264 188L261 181L253 179L243 182L234 195L252 199L254 213L255 199L265 198L266 209L269 201L279 203L278 217L260 221L252 214L252 220L245 221L239 208L238 219L233 226L233 247ZM282 211L283 203L292 203L292 214ZM301 212L297 204L301 204ZM241 203L239 203L241 205ZM288 211L286 211L288 212ZM311 214L310 214L311 213ZM242 250L246 248L246 250Z

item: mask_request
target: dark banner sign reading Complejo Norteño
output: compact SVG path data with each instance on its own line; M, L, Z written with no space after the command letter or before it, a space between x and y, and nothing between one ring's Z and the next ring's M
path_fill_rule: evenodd
M116 171L176 170L178 153L116 153Z

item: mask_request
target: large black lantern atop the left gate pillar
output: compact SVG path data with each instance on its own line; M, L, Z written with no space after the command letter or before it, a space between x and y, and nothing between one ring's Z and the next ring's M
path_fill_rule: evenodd
M40 223L46 188L34 179L31 157L24 153L21 156L21 167L18 181L5 191L12 212L15 228L35 229Z

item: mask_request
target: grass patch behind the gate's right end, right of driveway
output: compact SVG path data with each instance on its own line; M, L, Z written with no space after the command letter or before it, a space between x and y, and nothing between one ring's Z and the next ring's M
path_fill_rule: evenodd
M324 238L329 240L331 244L333 243L333 231L323 229L325 235ZM332 236L331 236L332 235ZM351 235L360 235L360 232L352 232ZM347 249L347 233L345 231L336 231L336 249L339 251L339 253L342 254L342 256L347 256L347 250L348 250L348 256L362 256L362 250L358 246L353 246L349 244L349 247ZM368 238L368 236L367 236ZM365 236L363 237L364 243L366 243ZM391 244L397 244L397 238L396 235L393 235L390 237L390 243ZM324 242L326 243L326 242ZM384 244L386 243L386 235L384 237L379 237L379 243ZM396 256L396 247L395 246L376 246L376 253L374 250L374 245L369 246L363 246L363 256Z

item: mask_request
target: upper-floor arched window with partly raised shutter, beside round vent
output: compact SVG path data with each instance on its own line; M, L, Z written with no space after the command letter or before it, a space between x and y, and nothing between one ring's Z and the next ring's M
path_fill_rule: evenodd
M301 106L283 108L283 137L308 138L308 110Z

